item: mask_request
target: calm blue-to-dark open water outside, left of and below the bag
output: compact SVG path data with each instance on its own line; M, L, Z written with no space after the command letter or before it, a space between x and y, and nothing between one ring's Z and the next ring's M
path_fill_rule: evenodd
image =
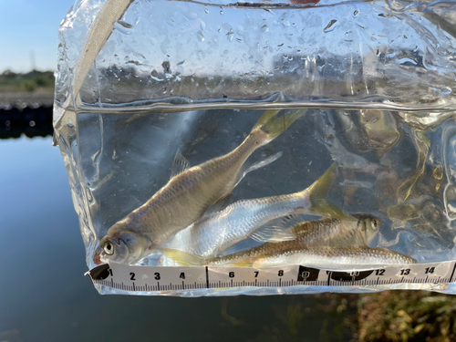
M318 314L326 301L313 296L98 295L83 276L78 216L51 138L2 140L0 160L0 340L347 339L347 328L328 333L343 316Z

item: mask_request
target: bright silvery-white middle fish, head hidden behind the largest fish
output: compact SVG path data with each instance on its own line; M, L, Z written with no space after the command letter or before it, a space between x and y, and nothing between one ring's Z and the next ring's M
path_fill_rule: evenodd
M290 213L314 213L336 216L339 218L338 220L329 219L329 221L322 223L325 227L328 227L327 232L325 227L320 227L319 231L325 231L320 234L322 236L325 233L335 234L334 231L337 231L339 226L339 235L349 234L350 229L352 231L356 230L358 221L351 216L347 216L334 204L326 202L325 199L327 190L334 179L335 171L336 164L333 164L320 179L302 192L238 201L221 212L205 214L202 219L177 233L171 242L164 244L163 247L211 257L222 254L227 248L247 237L262 243L294 240L296 238L295 233L304 229L299 224L295 228L296 232L290 232L289 229L285 229L282 226L267 226L258 230L265 223ZM353 221L350 221L350 219ZM287 220L285 224L290 224L289 221ZM329 229L330 224L334 226L333 229ZM346 239L354 239L356 236L358 235L353 232ZM362 243L359 242L359 244L366 245L366 240Z

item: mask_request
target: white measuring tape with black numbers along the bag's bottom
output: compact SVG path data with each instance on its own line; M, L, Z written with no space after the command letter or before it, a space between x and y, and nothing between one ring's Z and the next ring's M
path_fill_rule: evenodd
M448 284L456 282L455 270L456 261L353 272L335 272L303 265L252 268L102 264L86 275L90 275L94 284L140 293L244 286Z

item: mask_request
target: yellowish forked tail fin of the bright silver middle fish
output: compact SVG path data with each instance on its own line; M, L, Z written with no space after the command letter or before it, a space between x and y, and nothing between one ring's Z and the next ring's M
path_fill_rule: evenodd
M337 163L335 162L308 189L310 192L310 212L340 220L356 221L356 218L343 212L336 204L327 200L327 192L336 178L336 170Z

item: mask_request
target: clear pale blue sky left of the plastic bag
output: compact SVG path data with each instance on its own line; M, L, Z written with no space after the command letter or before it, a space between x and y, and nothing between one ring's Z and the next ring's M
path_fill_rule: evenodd
M57 65L57 31L75 0L0 0L0 73Z

